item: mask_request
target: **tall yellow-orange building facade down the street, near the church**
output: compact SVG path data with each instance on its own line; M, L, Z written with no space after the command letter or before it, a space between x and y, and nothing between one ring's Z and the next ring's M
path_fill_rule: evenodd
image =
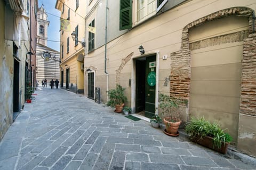
M84 93L85 2L57 1L55 5L68 23L67 29L60 31L60 86L75 93Z

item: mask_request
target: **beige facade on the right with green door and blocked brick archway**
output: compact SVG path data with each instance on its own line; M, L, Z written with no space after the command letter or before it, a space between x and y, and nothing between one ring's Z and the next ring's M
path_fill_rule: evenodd
M255 1L143 2L87 2L85 95L94 99L99 87L106 103L106 91L120 84L133 113L148 102L153 114L159 93L187 99L184 122L192 116L217 121L239 151L256 156ZM122 18L125 10L130 18Z

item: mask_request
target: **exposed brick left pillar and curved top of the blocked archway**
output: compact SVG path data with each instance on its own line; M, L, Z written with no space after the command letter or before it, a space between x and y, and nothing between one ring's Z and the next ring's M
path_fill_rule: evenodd
M180 51L171 53L170 95L174 98L189 99L191 78L191 55L189 48L189 29L205 22L227 17L229 15L247 16L249 18L249 33L252 32L252 9L247 7L232 7L206 15L189 23L182 31ZM246 34L246 33L245 33ZM245 35L246 36L246 35ZM241 37L239 37L240 39ZM194 44L200 45L200 44Z

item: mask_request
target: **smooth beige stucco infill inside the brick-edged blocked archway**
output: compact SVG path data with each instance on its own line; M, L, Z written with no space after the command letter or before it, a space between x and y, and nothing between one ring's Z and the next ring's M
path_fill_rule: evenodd
M229 16L189 30L189 116L219 122L233 142L237 142L243 39L248 28L247 17Z

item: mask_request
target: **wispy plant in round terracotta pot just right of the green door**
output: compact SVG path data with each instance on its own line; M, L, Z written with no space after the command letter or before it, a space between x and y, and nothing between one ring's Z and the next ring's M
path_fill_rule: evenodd
M172 96L162 94L159 95L160 114L165 124L164 133L170 136L178 136L178 128L181 124L181 105L187 104L187 100L173 98Z

